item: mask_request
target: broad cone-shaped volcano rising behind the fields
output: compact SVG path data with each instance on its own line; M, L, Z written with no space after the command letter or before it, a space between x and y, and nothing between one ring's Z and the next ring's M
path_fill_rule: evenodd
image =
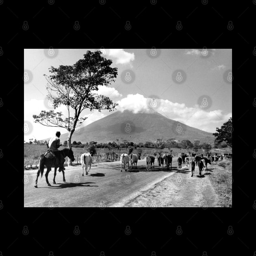
M184 140L191 142L197 139L201 143L213 143L215 137L210 132L187 126L169 119L155 111L151 113L132 113L131 111L116 111L85 127L78 129L72 135L71 141L97 141L107 143L116 139L127 139L134 143L155 141L162 138ZM67 140L67 133L61 135L61 142Z

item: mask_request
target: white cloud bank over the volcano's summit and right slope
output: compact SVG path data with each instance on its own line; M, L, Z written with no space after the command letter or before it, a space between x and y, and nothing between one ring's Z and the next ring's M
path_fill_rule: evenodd
M229 117L232 117L232 113L225 115L222 110L218 109L207 112L197 105L187 107L184 103L175 103L169 100L159 100L159 102L161 105L156 111L161 115L206 132L215 132L216 127L220 127L225 121L228 121ZM133 113L149 113L152 111L147 104L147 98L140 94L128 94L126 98L117 103L119 104L117 110L121 112L130 110Z

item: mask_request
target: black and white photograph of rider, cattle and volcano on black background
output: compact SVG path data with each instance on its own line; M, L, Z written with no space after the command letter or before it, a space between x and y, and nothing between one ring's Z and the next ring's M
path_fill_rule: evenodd
M24 207L232 207L232 49L24 49Z

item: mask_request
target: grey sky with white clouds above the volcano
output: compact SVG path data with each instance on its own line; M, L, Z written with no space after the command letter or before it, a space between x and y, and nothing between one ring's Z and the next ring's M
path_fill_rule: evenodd
M65 128L36 124L33 115L52 110L47 98L48 69L74 65L87 50L24 49L24 141L45 139ZM116 111L153 109L169 119L215 132L232 117L232 49L104 49L118 75L98 93L118 103ZM65 106L57 109L65 115ZM83 111L86 126L113 112Z

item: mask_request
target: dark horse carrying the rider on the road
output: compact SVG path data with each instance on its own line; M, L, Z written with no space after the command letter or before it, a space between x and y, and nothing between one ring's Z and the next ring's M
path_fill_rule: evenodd
M59 150L59 151L60 151L60 154L62 154L64 158L67 156L68 158L71 159L72 162L75 161L72 148L70 148L70 149L65 148L65 149ZM52 167L54 167L53 184L56 184L55 176L56 176L57 168L59 167L59 159L54 157L52 152L47 152L45 155L41 154L41 156L39 158L39 168L38 168L38 171L37 171L37 179L36 179L35 185L34 185L35 188L37 188L37 180L38 180L39 174L41 173L41 177L43 176L43 171L44 171L44 166L45 165L46 165L46 168L47 168L47 171L46 171L46 183L47 183L47 185L51 186L51 184L48 181L48 174L51 171ZM65 182L66 180L65 180L64 170L62 170L62 173L63 173L63 181Z

